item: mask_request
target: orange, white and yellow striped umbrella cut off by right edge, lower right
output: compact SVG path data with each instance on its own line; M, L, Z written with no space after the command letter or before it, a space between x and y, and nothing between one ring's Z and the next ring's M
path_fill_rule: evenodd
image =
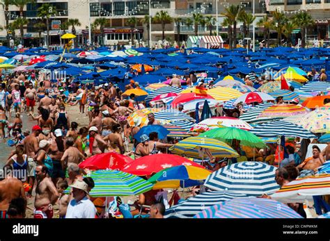
M315 195L330 194L330 174L320 174L319 176L306 176L297 178L287 185L283 185L280 190L271 195L272 199L281 202L304 202L313 200Z

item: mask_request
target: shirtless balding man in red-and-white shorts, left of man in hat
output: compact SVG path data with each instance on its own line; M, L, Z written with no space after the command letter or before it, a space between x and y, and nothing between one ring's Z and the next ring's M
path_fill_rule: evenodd
M36 199L34 201L35 210L33 210L34 218L52 218L53 205L58 199L57 189L49 178L48 169L45 165L36 167L37 187Z

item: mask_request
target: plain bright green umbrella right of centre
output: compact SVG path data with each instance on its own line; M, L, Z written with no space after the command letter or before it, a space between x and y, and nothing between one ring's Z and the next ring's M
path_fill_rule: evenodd
M258 136L235 127L215 128L198 135L198 137L214 138L226 142L228 140L239 140L242 145L248 147L265 147L265 143Z

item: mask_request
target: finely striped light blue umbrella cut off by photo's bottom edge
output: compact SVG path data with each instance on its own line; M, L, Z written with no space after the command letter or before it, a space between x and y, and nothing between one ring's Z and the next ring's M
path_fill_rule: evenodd
M302 218L292 208L272 199L237 198L203 210L195 218Z

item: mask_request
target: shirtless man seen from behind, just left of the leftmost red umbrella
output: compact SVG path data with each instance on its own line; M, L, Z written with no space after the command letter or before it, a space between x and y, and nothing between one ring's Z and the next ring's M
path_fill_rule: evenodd
M65 151L61 158L61 163L65 169L67 169L72 163L79 164L81 160L85 159L85 156L73 146L74 139L67 138L65 141Z

